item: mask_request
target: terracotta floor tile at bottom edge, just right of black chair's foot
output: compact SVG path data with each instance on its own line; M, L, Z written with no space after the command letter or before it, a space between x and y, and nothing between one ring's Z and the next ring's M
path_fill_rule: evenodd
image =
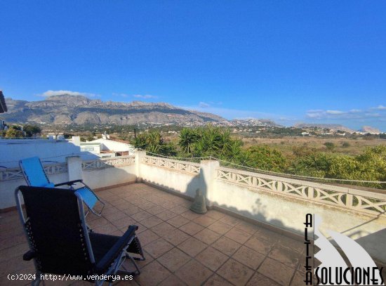
M135 276L135 281L142 286L155 286L168 278L171 273L156 260L142 268L140 275Z

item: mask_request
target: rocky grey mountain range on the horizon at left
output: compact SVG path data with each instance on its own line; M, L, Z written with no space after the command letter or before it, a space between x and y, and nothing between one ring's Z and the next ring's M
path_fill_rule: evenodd
M133 101L103 102L85 96L63 94L44 100L27 101L6 98L8 112L1 115L8 122L39 124L186 124L222 122L211 113L184 110L168 103Z

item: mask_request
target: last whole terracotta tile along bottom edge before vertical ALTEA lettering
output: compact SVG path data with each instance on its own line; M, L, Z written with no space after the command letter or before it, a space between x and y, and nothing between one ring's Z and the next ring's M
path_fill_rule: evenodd
M289 285L295 269L274 259L267 258L258 268L258 272L278 282L280 285Z

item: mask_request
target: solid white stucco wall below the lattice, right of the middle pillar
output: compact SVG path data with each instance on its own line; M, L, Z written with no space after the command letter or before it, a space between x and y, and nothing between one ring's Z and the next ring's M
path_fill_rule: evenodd
M319 214L321 232L335 230L357 240L371 256L386 261L386 216L359 214L340 207L306 202L285 195L248 189L225 181L215 181L213 204L262 223L304 234L305 215Z

